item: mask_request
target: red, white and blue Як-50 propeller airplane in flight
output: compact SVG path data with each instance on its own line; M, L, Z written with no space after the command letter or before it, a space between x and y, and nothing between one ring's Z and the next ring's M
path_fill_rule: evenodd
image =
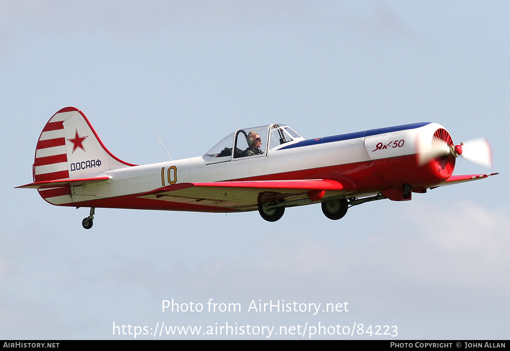
M246 153L248 149L255 151ZM484 139L455 145L437 123L423 122L305 140L286 124L238 129L202 156L147 165L115 157L85 114L66 107L44 126L33 183L46 202L90 208L231 213L280 219L288 207L321 204L324 215L374 200L487 178L453 175L456 157L492 166Z

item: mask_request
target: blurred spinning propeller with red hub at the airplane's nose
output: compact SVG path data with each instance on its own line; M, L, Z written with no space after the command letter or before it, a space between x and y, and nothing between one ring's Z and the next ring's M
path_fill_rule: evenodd
M423 165L438 157L462 156L480 166L492 168L491 146L485 138L468 140L460 145L448 145L445 141L433 138L430 145L419 143L419 164Z

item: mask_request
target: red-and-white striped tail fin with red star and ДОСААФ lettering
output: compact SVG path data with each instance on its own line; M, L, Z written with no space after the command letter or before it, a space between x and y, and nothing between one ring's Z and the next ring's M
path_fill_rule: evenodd
M66 107L44 126L36 146L34 183L22 187L37 188L51 204L72 206L71 185L104 179L99 178L102 172L129 166L134 165L108 151L80 110Z

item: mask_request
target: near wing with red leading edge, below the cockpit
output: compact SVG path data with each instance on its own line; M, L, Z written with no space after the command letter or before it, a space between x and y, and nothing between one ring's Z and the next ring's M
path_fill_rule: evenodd
M256 209L261 203L283 199L288 201L308 197L311 201L317 201L349 190L352 189L347 189L340 182L326 179L240 181L174 184L138 197L243 211Z

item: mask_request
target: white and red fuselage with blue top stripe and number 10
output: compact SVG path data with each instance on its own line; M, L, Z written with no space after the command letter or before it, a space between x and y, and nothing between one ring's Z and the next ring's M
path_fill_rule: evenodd
M228 212L230 209L200 204L183 206L139 195L183 183L311 179L348 184L350 190L346 197L384 191L391 194L391 189L401 192L404 184L421 191L443 183L453 172L455 159L452 157L424 165L417 161L416 155L423 143L430 144L438 131L446 132L437 123L416 123L309 140L296 138L274 147L266 143L264 154L258 156L231 156L218 161L205 155L125 166L91 174L109 176L108 182L71 186L67 196L45 199L55 205L76 207Z

